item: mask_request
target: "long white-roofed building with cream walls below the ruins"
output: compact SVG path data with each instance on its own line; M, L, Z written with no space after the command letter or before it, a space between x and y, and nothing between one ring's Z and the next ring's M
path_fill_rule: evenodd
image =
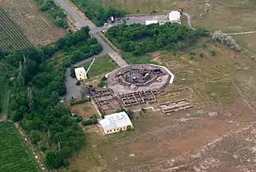
M103 134L113 134L120 131L127 130L127 127L132 129L133 125L129 116L125 111L119 113L105 115L103 120L99 120L98 124L103 130Z

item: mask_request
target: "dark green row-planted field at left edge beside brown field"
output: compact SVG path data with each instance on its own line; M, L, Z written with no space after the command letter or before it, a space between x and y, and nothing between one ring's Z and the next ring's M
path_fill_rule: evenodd
M16 25L0 10L0 49L16 50L31 45L30 41L16 28Z

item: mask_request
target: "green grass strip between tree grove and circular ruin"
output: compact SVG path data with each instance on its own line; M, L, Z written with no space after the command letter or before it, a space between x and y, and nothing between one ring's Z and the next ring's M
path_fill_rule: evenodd
M134 65L134 64L149 64L149 63L158 65L158 63L156 61L152 61L152 57L150 55L135 57L130 53L125 53L121 57L131 65Z

